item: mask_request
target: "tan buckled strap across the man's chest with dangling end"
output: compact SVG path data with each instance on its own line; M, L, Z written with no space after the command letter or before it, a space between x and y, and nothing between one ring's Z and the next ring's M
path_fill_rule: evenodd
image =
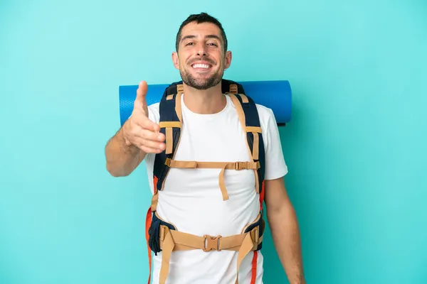
M260 168L260 162L196 162L189 160L172 160L167 158L164 162L169 168L220 168L219 173L219 188L223 200L228 200L228 193L226 189L226 183L224 182L225 170L258 170Z

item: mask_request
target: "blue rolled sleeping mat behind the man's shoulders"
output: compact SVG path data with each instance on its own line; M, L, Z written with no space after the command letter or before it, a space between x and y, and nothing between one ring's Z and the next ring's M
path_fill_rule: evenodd
M292 92L287 80L279 81L246 81L238 82L243 86L245 93L255 103L272 109L278 125L284 125L290 121ZM147 104L160 102L164 90L169 84L149 84L147 92ZM120 124L132 114L133 104L137 97L138 85L127 85L119 87L120 101Z

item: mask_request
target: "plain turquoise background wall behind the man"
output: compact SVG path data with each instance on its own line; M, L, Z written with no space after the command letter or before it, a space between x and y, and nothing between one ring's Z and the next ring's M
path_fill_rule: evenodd
M423 0L1 1L0 283L146 283L144 165L112 178L104 146L118 86L179 80L176 31L201 11L226 77L290 81L307 283L427 283ZM286 283L266 238L265 283Z

